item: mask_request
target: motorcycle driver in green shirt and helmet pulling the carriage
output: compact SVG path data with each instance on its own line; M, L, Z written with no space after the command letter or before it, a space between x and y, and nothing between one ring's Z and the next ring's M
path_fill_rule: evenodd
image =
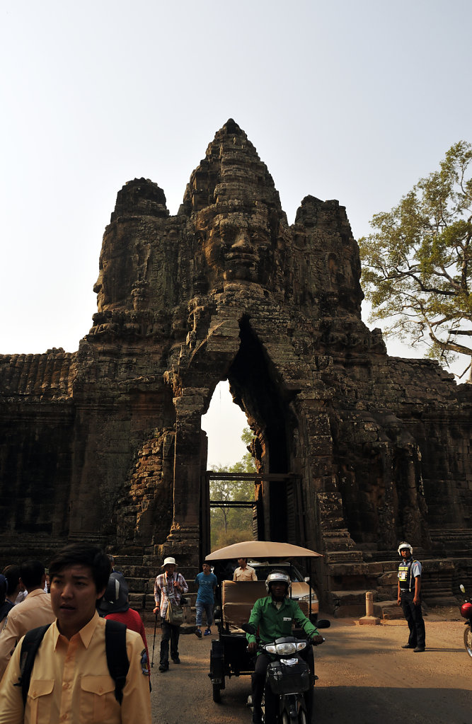
M292 636L292 622L303 628L308 639L314 645L322 644L324 639L316 626L306 618L300 609L298 602L288 597L290 592L290 576L284 571L271 571L266 578L267 595L257 599L250 612L248 623L259 629L259 638L263 644L269 644L282 636ZM254 654L257 651L256 636L252 633L246 634L248 639L248 652ZM312 686L305 694L307 704L308 721L311 720L311 709L313 704L313 649L311 646L301 652L311 671ZM262 710L261 702L264 694L267 667L271 658L266 652L258 652L256 668L252 675L253 690L253 724L261 724ZM269 692L267 692L269 694ZM266 695L266 723L272 723L277 714L276 700L273 694Z

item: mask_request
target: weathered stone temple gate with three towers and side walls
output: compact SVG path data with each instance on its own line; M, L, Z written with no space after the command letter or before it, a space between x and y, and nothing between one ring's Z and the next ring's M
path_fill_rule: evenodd
M0 357L0 563L88 539L130 576L175 555L191 578L209 545L201 416L228 379L258 472L280 476L256 483L258 535L324 554L326 606L391 597L402 539L426 600L450 597L472 578L472 386L389 357L360 277L345 208L308 195L289 225L232 119L175 216L128 182L78 350Z

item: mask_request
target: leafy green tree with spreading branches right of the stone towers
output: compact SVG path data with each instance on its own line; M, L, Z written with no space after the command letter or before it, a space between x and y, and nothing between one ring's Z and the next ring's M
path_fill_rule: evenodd
M472 146L459 141L359 240L371 320L449 364L472 356ZM471 362L469 360L468 366Z

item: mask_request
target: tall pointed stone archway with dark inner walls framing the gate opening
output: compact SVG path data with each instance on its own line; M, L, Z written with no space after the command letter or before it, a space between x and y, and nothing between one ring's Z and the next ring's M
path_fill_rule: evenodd
M205 555L208 544L206 434L201 416L221 379L229 380L235 404L248 418L255 439L253 456L258 471L256 508L258 537L305 544L303 492L298 439L297 390L285 386L266 345L258 338L257 319L247 311L235 317L208 320L206 341L193 342L180 353L179 374L168 376L176 410L174 461L174 519L167 545ZM260 321L259 321L260 323ZM224 344L222 340L224 339ZM218 350L218 351L216 351ZM286 350L288 353L289 350ZM195 376L200 387L187 387ZM198 516L197 511L200 511ZM311 526L313 533L313 526ZM196 561L194 561L196 564Z

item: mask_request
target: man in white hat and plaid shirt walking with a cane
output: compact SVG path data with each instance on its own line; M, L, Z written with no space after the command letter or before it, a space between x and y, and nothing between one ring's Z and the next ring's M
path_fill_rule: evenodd
M164 558L162 564L164 573L160 573L156 577L154 583L154 600L156 601L156 607L153 613L156 615L159 613L161 616L161 656L159 662L159 671L167 671L169 668L169 640L170 640L170 655L174 664L180 664L179 658L179 636L180 627L169 623L166 620L167 607L169 601L177 606L180 605L180 599L182 594L187 593L188 586L187 581L182 576L182 573L176 573L177 563L175 558L167 557Z

